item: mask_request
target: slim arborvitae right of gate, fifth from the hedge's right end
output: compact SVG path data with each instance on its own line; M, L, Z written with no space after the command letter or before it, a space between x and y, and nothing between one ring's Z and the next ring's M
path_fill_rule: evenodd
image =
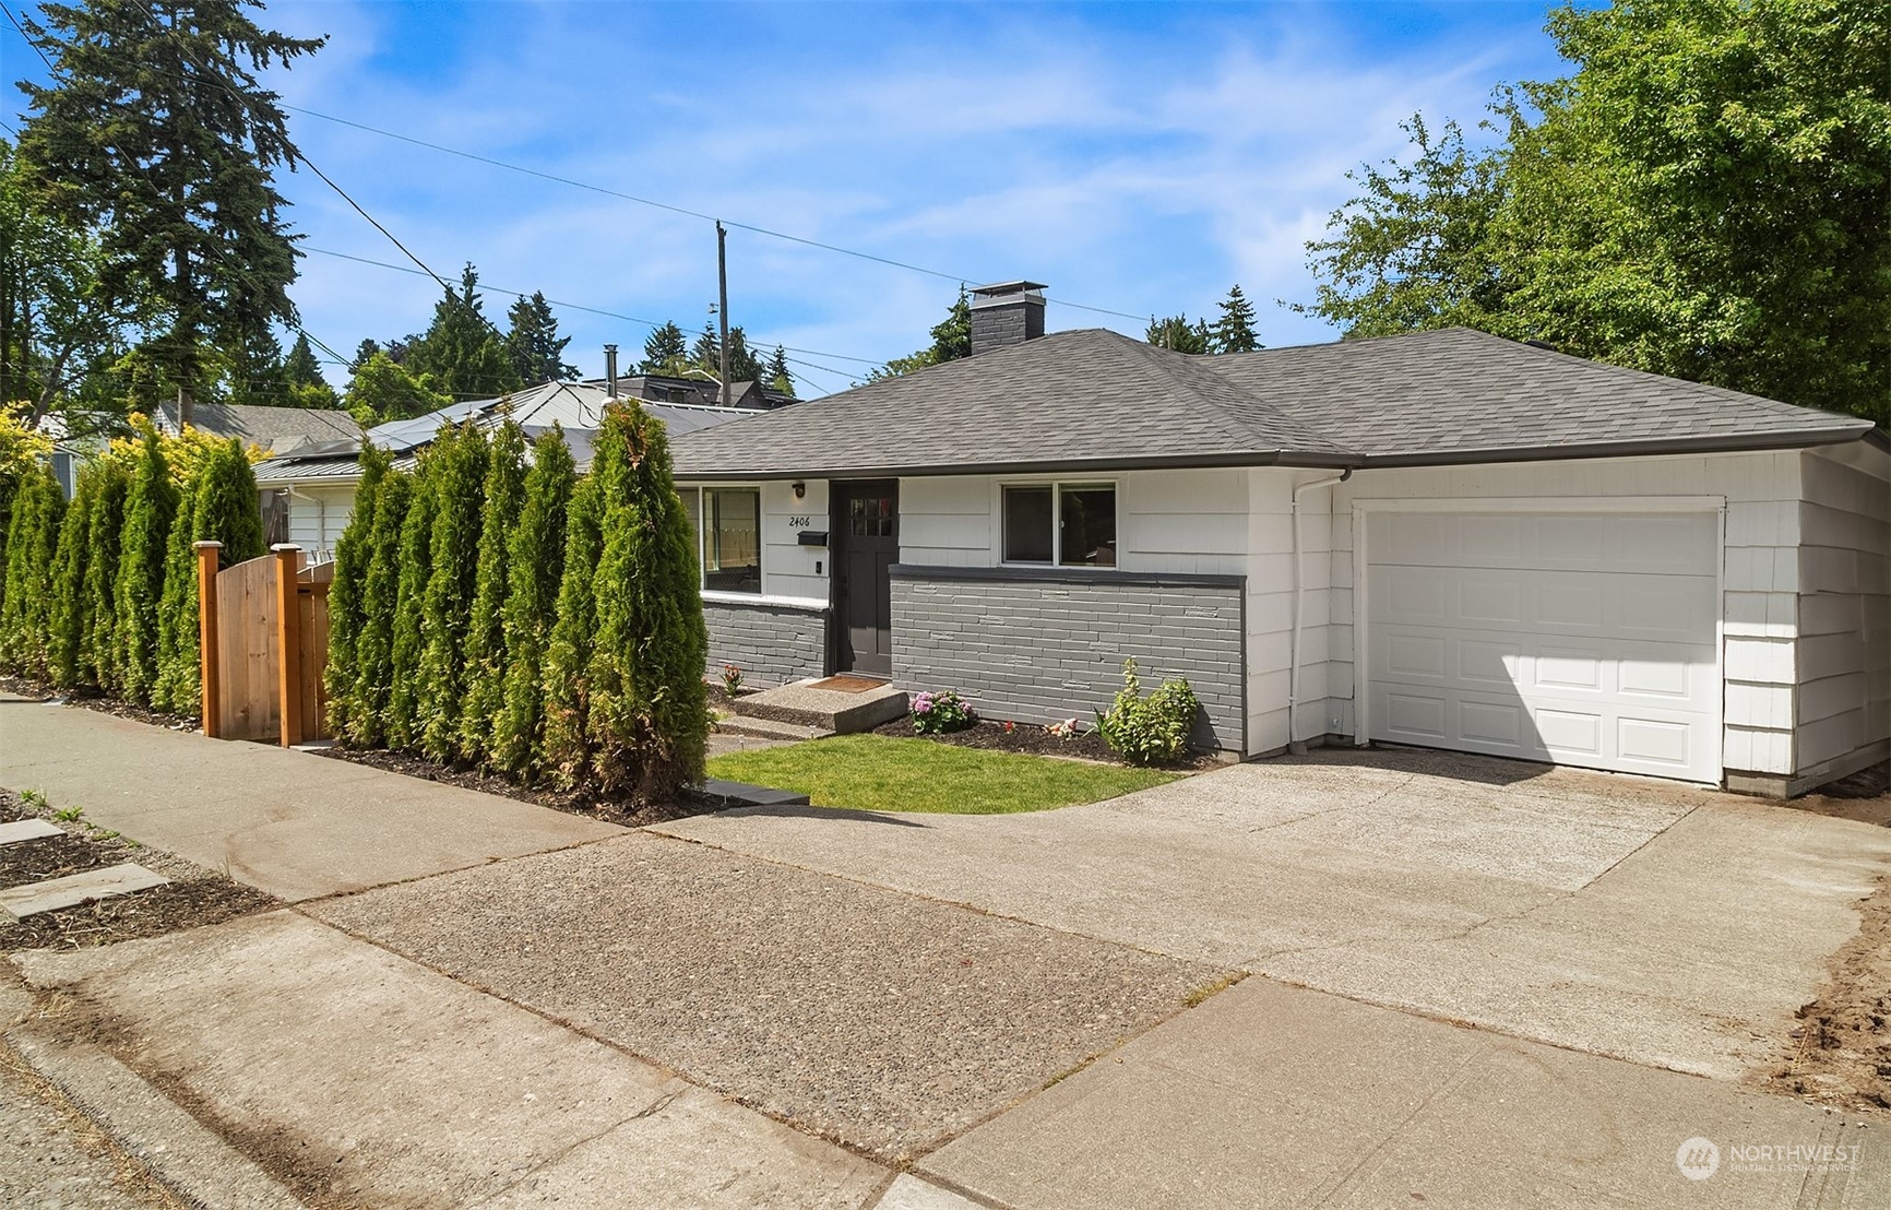
M460 751L460 709L467 692L467 626L478 584L484 512L486 433L471 424L433 442L433 565L420 607L420 751L446 760Z

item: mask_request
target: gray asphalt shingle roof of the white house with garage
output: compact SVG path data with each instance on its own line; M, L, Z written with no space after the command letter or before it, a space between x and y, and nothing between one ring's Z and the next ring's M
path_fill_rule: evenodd
M1870 422L1462 327L1231 355L1053 333L675 442L694 478L1793 448Z

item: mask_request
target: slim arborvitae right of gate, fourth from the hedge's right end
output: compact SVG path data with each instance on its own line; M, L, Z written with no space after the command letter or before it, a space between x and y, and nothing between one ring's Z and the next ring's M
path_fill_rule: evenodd
M463 760L492 760L494 717L505 703L507 558L526 492L526 431L507 420L492 435L486 490L478 520L478 569L473 584L471 628L465 635L465 696L460 705L458 751Z

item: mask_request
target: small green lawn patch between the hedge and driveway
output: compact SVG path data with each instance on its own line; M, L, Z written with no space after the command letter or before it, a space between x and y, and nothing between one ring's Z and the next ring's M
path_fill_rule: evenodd
M711 777L807 794L817 807L1006 815L1146 790L1174 773L985 752L932 739L836 735L709 762Z

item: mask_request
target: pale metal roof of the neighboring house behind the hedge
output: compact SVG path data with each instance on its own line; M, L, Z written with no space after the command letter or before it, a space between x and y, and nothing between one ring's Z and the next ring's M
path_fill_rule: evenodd
M598 427L609 399L609 393L601 386L545 382L499 399L473 399L412 420L391 420L369 429L367 439L382 450L395 454L395 469L407 471L414 465L414 454L433 441L442 424L471 420L482 429L495 429L511 414L526 429L528 441L548 431L554 424L564 427L571 456L582 471L590 467L592 431ZM694 433L696 429L758 414L753 408L639 403L645 412L662 420L671 435ZM265 486L350 484L361 476L359 450L359 433L348 441L304 446L299 454L257 463L255 480Z

